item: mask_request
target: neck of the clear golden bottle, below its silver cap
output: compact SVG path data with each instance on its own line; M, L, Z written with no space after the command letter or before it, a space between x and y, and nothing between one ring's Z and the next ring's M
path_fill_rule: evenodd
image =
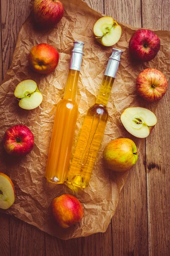
M104 76L99 94L96 99L96 104L103 105L104 107L107 106L114 79L115 78L111 76Z

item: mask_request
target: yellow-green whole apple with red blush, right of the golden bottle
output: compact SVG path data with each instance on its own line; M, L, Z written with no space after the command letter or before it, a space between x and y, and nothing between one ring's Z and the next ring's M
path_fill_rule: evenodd
M133 140L119 138L112 140L103 151L105 165L114 172L129 171L138 160L138 152Z

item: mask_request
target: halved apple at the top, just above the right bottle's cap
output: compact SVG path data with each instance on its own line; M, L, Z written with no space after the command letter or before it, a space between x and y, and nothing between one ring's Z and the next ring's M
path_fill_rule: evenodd
M119 41L122 28L112 17L102 17L94 24L93 32L100 44L112 46Z

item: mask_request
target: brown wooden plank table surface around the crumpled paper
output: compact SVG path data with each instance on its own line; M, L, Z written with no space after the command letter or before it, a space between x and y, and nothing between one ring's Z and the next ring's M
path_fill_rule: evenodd
M0 0L0 81L8 70L30 0ZM85 0L115 20L170 30L169 0ZM158 124L122 189L105 233L63 241L14 216L0 214L0 256L170 256L170 90Z

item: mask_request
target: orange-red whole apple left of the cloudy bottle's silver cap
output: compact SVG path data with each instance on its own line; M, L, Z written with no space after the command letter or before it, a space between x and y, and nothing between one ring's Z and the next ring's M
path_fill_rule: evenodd
M32 70L40 74L49 74L58 65L59 53L49 44L37 44L32 47L28 61Z

